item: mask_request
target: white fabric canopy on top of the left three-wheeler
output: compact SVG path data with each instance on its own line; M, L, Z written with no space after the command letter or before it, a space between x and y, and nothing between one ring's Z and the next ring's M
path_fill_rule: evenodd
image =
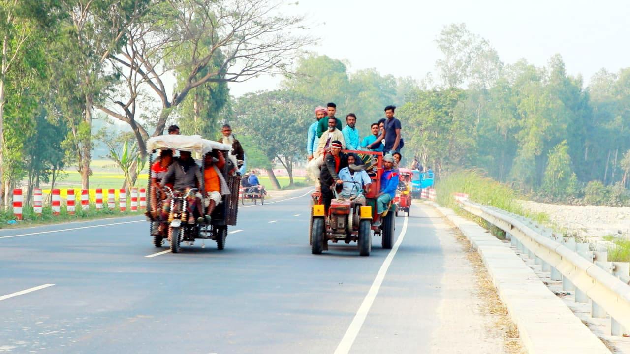
M152 137L147 140L147 152L151 154L153 150L180 150L206 154L215 150L232 151L232 147L221 142L203 139L200 135L178 135L168 134Z

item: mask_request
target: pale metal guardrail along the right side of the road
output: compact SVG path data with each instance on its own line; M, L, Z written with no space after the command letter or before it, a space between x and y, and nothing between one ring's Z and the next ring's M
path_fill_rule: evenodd
M610 314L610 333L628 334L630 330L629 263L608 262L607 253L591 251L589 244L564 239L531 220L495 207L457 198L467 212L481 217L506 232L510 239L543 271L551 271L552 280L562 280L564 290L575 290L575 301L592 303L592 317Z

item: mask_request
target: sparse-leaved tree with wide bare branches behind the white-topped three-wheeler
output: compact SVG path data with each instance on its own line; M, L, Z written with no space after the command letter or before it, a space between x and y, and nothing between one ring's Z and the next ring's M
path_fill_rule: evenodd
M260 74L289 74L289 64L304 45L302 16L275 14L282 4L269 0L167 0L152 6L142 21L130 26L125 49L110 58L117 66L136 72L159 98L161 108L152 135L163 134L171 112L196 88L212 83L239 83ZM178 76L169 94L164 74ZM113 99L101 105L105 113L132 126L140 151L149 137L147 128L120 110L134 104ZM194 106L194 105L193 105Z

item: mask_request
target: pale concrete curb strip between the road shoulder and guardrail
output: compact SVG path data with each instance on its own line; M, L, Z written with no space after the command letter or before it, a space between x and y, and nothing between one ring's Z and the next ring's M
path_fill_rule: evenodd
M610 354L602 341L542 283L508 243L471 220L430 202L481 255L493 285L530 354Z

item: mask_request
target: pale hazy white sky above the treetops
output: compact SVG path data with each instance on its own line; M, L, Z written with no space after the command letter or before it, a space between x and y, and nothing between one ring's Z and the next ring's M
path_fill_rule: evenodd
M525 58L543 66L559 53L567 71L587 83L602 67L630 66L630 0L299 0L291 8L307 15L309 33L319 38L309 50L348 60L350 71L375 67L421 79L440 57L438 33L459 22L486 38L504 63ZM231 93L274 89L280 79L231 84Z

